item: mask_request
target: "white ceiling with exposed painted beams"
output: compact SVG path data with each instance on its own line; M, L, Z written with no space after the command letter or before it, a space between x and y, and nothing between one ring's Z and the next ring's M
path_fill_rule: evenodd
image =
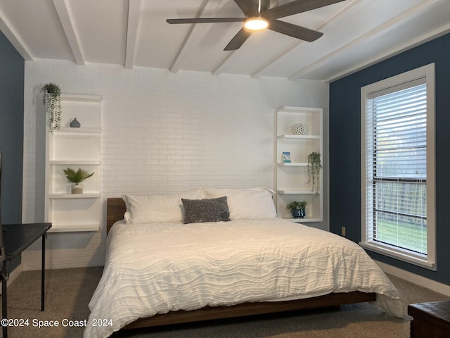
M271 7L292 0L271 1ZM167 18L242 17L233 0L1 0L0 30L25 58L335 80L450 32L450 0L346 0L281 20L315 42L266 30L223 51L242 23L169 25Z

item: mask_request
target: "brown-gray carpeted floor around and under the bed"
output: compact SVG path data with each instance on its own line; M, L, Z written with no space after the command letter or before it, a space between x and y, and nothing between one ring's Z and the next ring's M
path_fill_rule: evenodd
M9 327L8 337L82 337L84 327L63 327L63 320L82 323L89 316L88 303L103 268L46 271L46 310L40 310L40 272L26 271L8 288L8 318L28 320L23 327ZM401 294L404 313L409 303L439 301L449 297L390 276ZM58 320L58 327L49 325ZM113 338L407 338L409 316L392 318L368 303L342 306L339 311L297 311L251 318L215 320L172 327L129 330ZM39 322L40 321L40 322ZM47 321L47 322L46 322Z

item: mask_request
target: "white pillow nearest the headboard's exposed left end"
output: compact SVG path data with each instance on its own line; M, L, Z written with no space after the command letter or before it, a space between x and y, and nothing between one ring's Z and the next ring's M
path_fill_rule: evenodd
M124 194L127 224L181 222L184 218L183 199L203 199L202 189L174 194Z

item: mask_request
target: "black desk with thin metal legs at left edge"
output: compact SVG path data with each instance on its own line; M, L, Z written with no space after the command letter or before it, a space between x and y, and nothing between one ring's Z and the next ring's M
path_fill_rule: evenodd
M41 311L44 311L45 282L45 239L51 223L30 223L3 225L5 258L1 268L1 318L8 318L8 296L6 294L7 277L10 262L20 255L28 246L42 237L42 272L41 272ZM3 327L3 337L8 338L8 327Z

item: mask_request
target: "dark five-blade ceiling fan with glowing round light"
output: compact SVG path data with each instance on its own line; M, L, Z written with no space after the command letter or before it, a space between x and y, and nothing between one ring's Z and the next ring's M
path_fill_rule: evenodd
M167 19L167 23L236 23L243 22L244 27L226 45L224 51L239 49L252 32L257 30L274 30L290 37L313 42L323 35L316 30L306 27L286 23L278 20L285 16L294 15L316 8L321 8L344 0L295 0L288 4L270 8L270 0L234 0L243 11L245 18L188 18L188 19Z

